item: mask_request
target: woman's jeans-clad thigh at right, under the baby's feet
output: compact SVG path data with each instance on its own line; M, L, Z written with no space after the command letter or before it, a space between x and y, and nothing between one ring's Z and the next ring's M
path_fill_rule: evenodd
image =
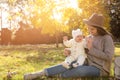
M100 76L100 69L94 66L78 66L61 74L63 78Z

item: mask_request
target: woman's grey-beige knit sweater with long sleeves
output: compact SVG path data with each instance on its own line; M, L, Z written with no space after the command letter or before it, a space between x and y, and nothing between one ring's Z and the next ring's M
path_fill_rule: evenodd
M106 76L110 73L113 54L114 44L111 36L94 36L93 46L87 55L88 63L99 68L101 76Z

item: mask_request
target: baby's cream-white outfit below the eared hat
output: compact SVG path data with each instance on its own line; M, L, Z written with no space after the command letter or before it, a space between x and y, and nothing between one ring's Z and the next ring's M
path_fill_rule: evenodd
M71 64L73 61L77 61L78 65L83 65L86 59L86 54L84 48L86 47L86 42L83 39L81 42L76 42L74 39L63 41L63 44L71 54L66 57L65 63Z

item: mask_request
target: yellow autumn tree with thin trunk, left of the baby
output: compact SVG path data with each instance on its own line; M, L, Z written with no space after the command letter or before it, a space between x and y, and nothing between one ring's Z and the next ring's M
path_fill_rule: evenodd
M39 3L39 4L38 4ZM65 25L62 24L59 16L59 9L54 1L36 0L33 4L34 16L31 17L31 23L34 27L40 27L42 33L56 36L56 47L58 47L58 37L60 32L65 30ZM64 29L63 29L64 28Z

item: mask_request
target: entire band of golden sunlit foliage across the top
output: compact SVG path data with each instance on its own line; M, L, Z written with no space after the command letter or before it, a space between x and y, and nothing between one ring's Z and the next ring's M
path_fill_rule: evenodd
M110 18L102 0L8 0L8 4L11 21L19 17L24 23L41 27L43 33L51 35L79 27L86 32L82 20L94 12L104 14L105 26L107 29L109 26Z

